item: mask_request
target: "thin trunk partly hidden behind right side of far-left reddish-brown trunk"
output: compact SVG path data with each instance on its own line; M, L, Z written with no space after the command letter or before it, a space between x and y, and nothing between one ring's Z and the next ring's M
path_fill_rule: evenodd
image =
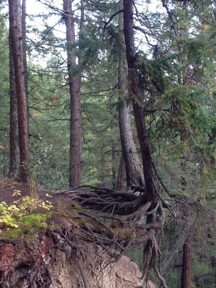
M28 80L27 80L27 57L26 57L26 0L22 1L22 33L23 33L23 68L24 68L24 82L27 103L27 120L28 120L28 137L29 137L29 112L28 112ZM28 159L30 161L30 151L28 150Z

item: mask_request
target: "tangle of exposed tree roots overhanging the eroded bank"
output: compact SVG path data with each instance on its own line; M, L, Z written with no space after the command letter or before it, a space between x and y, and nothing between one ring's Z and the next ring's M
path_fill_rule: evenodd
M157 191L154 183L153 186ZM86 190L86 188L90 190ZM139 195L136 195L135 192L138 192ZM57 191L52 196L63 194L70 195L72 205L76 206L76 201L82 208L88 209L88 211L77 210L79 215L89 219L78 227L79 236L83 240L100 245L107 255L115 259L114 261L117 261L125 253L129 245L146 243L143 251L143 287L148 287L149 274L152 269L160 280L161 286L167 287L161 275L161 253L154 235L163 229L165 209L168 209L171 217L184 231L186 219L179 212L183 211L180 207L187 206L191 213L197 215L201 210L200 203L169 193L167 193L170 197L169 202L165 201L159 192L156 192L157 197L152 198L144 187L137 186L132 187L131 193L128 193L104 187L82 185ZM94 210L94 212L92 213L90 210ZM114 248L119 249L120 253L116 253ZM80 256L77 253L79 262ZM159 268L157 268L158 254ZM147 265L148 257L150 257L150 262ZM81 267L79 266L79 268Z

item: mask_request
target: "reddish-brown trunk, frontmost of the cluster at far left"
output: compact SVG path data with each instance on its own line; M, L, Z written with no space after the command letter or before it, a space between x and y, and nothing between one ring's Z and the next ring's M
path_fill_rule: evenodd
M29 180L29 147L28 147L28 115L23 68L22 25L20 0L9 0L9 30L11 35L11 48L14 60L18 126L19 151L21 164L21 180Z

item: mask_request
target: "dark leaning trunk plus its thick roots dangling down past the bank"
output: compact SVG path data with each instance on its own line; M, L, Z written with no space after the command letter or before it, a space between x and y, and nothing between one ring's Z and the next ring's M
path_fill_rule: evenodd
M145 180L145 191L148 201L151 201L151 207L155 207L158 203L156 212L147 215L148 223L164 222L164 208L160 202L160 187L156 178L156 170L153 164L152 149L148 140L147 129L145 125L143 106L142 106L142 90L140 87L138 72L135 67L135 45L133 35L133 0L123 0L123 19L124 19L124 36L127 55L127 67L130 81L130 92L133 105L133 113L135 118L136 130L139 139L139 145L143 161L143 174ZM156 229L148 231L149 238L143 251L143 286L148 287L149 273L153 268L156 275L161 280L162 287L167 287L164 278L160 274L160 270L156 267L158 246L154 237ZM151 253L151 259L148 263L148 254Z

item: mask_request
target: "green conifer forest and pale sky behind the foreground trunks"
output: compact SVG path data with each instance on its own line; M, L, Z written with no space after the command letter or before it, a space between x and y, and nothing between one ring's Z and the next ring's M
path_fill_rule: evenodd
M8 4L1 1L0 5L0 173L2 177L7 177L10 169ZM78 182L126 191L128 186L133 185L129 183L125 174L127 167L125 172L122 161L119 109L123 102L130 115L138 170L142 170L143 166L134 106L131 106L133 95L129 93L125 97L122 89L119 89L119 57L126 59L126 56L122 56L125 47L121 44L122 35L119 32L119 3L83 2L85 16L82 22L80 2L73 2L76 34L73 44L66 44L62 4L44 0L36 2L36 5L43 6L44 12L26 15L25 39L30 178L34 175L45 189L69 187L71 107L67 52L72 51L76 55L78 68L70 70L70 73L73 77L77 74L81 77L81 161ZM38 25L38 19L42 25ZM80 34L81 23L84 27ZM214 3L209 0L139 1L134 5L133 28L135 69L143 97L142 102L136 101L143 107L160 185L164 185L171 194L179 194L213 209L216 93ZM128 84L126 88L130 90ZM120 175L122 171L124 173ZM205 212L199 213L203 216ZM192 285L213 287L216 266L214 228L205 215L194 217L197 219L191 221L194 226ZM159 240L163 259L175 243L178 229L172 216L167 217L165 238ZM143 254L139 253L139 248L132 248L130 253L142 266ZM164 274L165 280L169 282L168 287L178 287L182 250L170 265Z

